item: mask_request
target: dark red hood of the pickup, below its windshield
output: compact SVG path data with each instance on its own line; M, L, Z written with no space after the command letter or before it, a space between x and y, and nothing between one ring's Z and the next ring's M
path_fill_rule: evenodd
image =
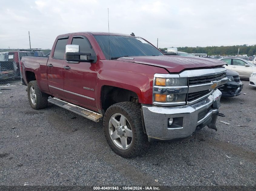
M188 56L131 56L117 59L123 62L152 65L165 68L169 72L181 72L188 68L213 68L226 63L218 59L188 57Z

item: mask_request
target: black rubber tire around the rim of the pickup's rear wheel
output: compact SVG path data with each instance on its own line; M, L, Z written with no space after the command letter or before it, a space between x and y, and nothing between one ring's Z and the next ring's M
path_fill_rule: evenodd
M35 89L35 95L36 95L35 105L31 102L31 99L30 99L29 90L31 86ZM28 83L28 101L30 103L30 106L35 110L43 109L48 105L48 95L40 91L40 89L38 88L37 82L35 80L30 81Z

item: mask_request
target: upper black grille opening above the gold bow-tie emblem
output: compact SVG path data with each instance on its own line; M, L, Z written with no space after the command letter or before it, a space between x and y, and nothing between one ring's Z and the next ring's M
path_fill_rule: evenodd
M211 83L211 81L218 81L224 77L226 77L225 72L215 75L190 77L188 78L188 85L207 84Z

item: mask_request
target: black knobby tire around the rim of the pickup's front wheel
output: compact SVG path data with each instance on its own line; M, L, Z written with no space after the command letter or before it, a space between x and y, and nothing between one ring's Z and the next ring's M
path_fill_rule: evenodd
M132 133L133 141L132 145L128 149L120 149L112 141L109 130L108 123L110 117L115 113L121 113L129 121ZM142 117L141 117L141 105L132 102L120 102L111 105L103 119L103 131L107 139L110 148L118 155L124 158L136 157L139 154L145 153L147 147L149 146L148 136L143 131Z

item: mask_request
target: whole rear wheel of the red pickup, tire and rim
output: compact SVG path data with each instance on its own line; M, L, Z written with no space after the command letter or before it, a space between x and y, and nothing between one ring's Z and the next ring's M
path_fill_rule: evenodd
M28 83L28 100L30 106L35 110L43 109L48 105L48 96L40 91L36 81Z

